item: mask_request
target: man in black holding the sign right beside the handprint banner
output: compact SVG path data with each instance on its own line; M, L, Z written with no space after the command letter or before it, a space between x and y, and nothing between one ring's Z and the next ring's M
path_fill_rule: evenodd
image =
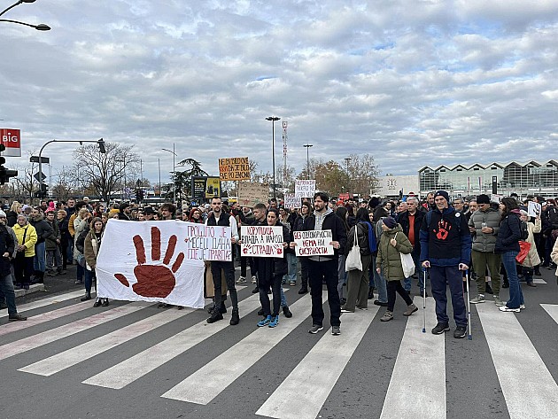
M209 214L207 220L205 221L206 226L222 226L230 227L231 238L230 242L235 244L238 241L238 227L236 224L236 219L229 213L223 213L221 198L212 198L211 200L212 213ZM233 306L232 317L230 319L230 324L235 326L240 322L240 317L238 315L238 297L236 296L235 288L235 267L232 261L232 255L230 260L212 260L211 261L211 274L213 278L221 278L221 269L225 273L225 280L227 281L227 288L229 288L230 301ZM223 320L223 314L221 314L221 281L213 281L215 287L215 306L213 308L213 313L211 317L207 319L208 323L218 322Z

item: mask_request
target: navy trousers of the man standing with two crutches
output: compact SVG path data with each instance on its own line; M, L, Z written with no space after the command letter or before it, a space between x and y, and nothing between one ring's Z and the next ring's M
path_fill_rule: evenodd
M431 267L430 286L432 297L436 300L436 318L440 323L449 323L446 314L447 295L449 285L452 296L453 320L457 326L467 326L467 311L463 299L463 272L458 267Z

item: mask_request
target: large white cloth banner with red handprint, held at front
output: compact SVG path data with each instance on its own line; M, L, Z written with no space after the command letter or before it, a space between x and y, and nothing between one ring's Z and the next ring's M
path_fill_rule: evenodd
M188 252L189 225L109 220L97 255L97 296L203 308L204 261Z

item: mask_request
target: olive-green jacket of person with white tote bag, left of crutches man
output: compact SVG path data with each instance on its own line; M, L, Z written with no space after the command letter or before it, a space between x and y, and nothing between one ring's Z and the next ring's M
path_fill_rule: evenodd
M397 241L395 247L390 244L392 238L395 238ZM413 246L398 224L397 227L384 231L384 234L382 234L380 238L380 244L378 245L376 268L382 268L387 281L400 281L401 279L405 279L399 252L406 254L411 253L413 252Z

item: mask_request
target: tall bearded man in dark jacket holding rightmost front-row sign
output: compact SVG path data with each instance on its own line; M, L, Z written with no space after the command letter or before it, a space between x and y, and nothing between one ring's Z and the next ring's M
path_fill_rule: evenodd
M308 216L304 226L305 231L330 230L333 254L317 254L306 256L308 258L308 271L310 280L310 295L312 296L312 328L309 333L316 334L323 330L323 301L322 280L328 288L329 323L331 334L341 334L341 302L337 291L337 260L339 252L344 252L347 235L343 221L331 208L328 208L329 196L324 192L314 194L314 213ZM291 243L291 248L295 243Z

